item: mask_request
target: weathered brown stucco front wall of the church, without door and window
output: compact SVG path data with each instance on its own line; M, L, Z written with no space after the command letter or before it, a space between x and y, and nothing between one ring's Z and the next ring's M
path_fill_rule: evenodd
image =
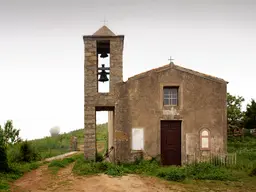
M163 86L179 86L177 107L163 106ZM211 135L211 153L226 150L226 82L213 81L172 68L151 71L121 83L116 88L117 161L130 160L131 129L144 128L144 148L149 156L160 154L160 120L182 120L182 162L200 151L200 130ZM173 115L172 113L173 112Z

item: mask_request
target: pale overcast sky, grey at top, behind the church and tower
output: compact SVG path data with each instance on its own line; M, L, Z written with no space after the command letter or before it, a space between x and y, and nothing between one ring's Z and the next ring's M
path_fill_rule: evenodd
M228 91L246 103L256 98L256 1L0 0L1 125L12 119L23 139L49 135L55 125L83 127L82 36L104 17L125 35L124 81L172 56L229 81Z

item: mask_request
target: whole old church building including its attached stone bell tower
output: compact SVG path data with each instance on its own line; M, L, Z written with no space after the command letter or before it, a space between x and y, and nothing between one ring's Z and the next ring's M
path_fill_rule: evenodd
M226 153L227 82L170 63L123 82L124 36L103 26L84 36L86 159L96 156L96 111L109 111L113 162L161 157L182 165ZM110 55L108 93L98 92L99 54Z

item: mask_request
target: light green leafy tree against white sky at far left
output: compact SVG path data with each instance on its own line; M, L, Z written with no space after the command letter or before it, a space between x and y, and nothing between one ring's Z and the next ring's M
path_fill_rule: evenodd
M14 128L12 120L7 120L3 128L0 126L0 132L4 145L15 144L21 141L19 137L20 130Z

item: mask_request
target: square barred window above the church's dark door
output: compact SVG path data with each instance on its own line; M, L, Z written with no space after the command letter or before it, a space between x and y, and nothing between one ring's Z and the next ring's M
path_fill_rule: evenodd
M178 87L164 87L164 105L178 105Z

